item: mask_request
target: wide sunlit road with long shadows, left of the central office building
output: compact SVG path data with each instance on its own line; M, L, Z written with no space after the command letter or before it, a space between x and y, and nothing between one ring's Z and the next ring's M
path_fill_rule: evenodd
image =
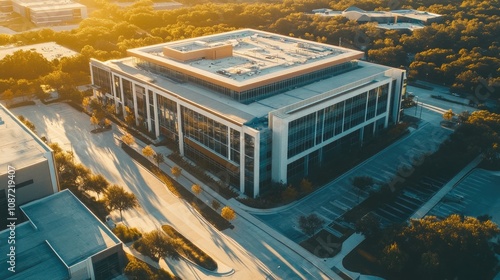
M183 200L172 195L148 170L134 162L120 147L122 133L113 130L92 134L86 114L67 104L37 104L12 110L36 126L40 136L73 150L75 160L95 173L103 174L112 184L133 192L140 207L123 212L124 223L143 231L173 225L202 250L214 257L220 266L233 268L226 279L328 279L315 266L296 252L283 246L244 219L236 219L234 230L219 232ZM119 213L112 213L119 221ZM205 272L184 261L167 260L170 270L183 279L215 279L220 276Z

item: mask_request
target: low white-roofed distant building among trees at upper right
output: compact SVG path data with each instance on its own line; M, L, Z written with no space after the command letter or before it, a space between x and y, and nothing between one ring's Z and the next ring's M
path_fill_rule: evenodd
M423 28L433 22L439 22L442 16L417 10L365 11L358 7L349 7L344 11L330 9L313 10L315 15L342 16L360 23L377 22L378 28L389 30L410 30Z

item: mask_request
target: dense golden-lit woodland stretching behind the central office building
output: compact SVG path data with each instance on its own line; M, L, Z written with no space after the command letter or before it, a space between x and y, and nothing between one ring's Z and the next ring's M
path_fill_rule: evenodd
M67 46L80 55L52 61L53 71L88 81L91 57L119 58L124 57L129 48L238 28L256 28L330 44L342 42L342 46L366 50L370 61L407 67L410 78L445 83L454 90L468 93L482 85L491 94L500 95L498 0L445 0L439 4L430 0L185 1L192 6L160 11L154 10L148 0L137 1L127 8L104 0L92 1L97 9L75 30L43 29L16 35L1 34L0 44L55 41ZM443 14L444 18L441 23L414 32L399 32L382 31L372 23L358 24L342 17L310 14L316 8L343 10L354 5L365 10L421 9ZM46 62L40 63L46 65ZM27 73L30 77L23 78L33 79L34 74ZM6 89L5 84L12 86L5 82L9 78L0 73L0 92Z

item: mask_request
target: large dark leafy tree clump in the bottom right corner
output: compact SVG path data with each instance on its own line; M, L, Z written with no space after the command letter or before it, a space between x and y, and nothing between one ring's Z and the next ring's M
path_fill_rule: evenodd
M414 271L415 279L487 279L498 263L488 242L499 233L490 220L426 216L387 240L381 259L393 273Z

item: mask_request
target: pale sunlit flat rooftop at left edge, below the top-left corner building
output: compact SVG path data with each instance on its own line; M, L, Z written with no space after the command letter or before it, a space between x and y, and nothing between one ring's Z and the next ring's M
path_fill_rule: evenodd
M75 51L72 51L66 47L63 47L55 42L47 42L26 46L15 46L15 45L7 45L0 46L0 59L3 59L7 55L11 55L13 52L23 50L23 51L35 51L47 60L52 61L54 59L60 59L61 57L70 57L78 54Z

